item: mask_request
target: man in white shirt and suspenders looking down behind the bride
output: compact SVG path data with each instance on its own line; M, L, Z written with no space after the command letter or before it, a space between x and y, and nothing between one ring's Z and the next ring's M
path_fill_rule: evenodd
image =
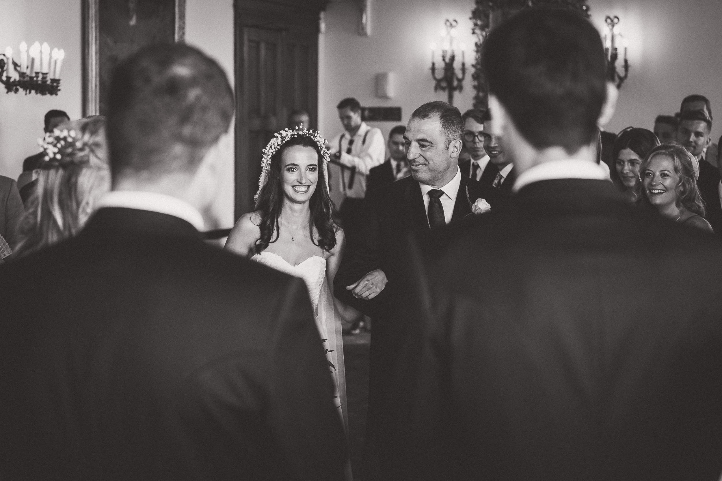
M340 179L333 180L332 189L340 188L342 201L339 219L342 222L347 244L357 242L361 233L363 198L366 194L366 175L373 167L383 164L386 146L378 128L369 127L361 120L361 105L347 98L336 105L344 132L331 141L331 160L340 164ZM338 172L338 171L336 171Z

